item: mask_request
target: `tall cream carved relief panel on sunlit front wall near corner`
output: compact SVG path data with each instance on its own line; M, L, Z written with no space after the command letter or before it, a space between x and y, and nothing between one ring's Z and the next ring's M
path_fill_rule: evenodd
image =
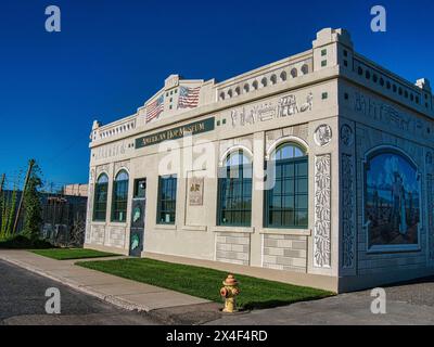
M314 265L331 267L331 155L315 157Z

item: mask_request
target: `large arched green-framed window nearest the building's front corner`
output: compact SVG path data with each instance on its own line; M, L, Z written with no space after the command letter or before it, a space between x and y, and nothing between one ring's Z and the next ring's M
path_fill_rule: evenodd
M266 227L308 227L308 157L295 143L279 145L267 163L268 171L275 172L268 191L265 191ZM270 181L268 183L270 184Z

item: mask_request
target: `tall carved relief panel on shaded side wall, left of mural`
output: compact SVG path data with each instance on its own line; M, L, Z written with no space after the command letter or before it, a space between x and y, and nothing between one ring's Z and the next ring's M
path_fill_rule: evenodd
M353 156L342 154L342 239L343 239L343 268L354 268L356 253L356 219L355 219L355 189Z

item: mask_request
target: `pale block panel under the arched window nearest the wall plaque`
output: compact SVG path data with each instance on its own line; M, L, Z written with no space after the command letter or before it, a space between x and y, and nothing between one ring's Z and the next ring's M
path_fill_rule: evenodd
M219 232L216 236L216 260L250 265L251 235L248 233Z

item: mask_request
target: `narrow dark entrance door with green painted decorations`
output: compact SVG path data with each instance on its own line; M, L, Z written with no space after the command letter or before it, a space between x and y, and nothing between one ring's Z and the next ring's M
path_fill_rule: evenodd
M144 226L146 210L146 179L135 181L135 195L131 208L131 229L129 237L129 255L140 257L144 245Z

